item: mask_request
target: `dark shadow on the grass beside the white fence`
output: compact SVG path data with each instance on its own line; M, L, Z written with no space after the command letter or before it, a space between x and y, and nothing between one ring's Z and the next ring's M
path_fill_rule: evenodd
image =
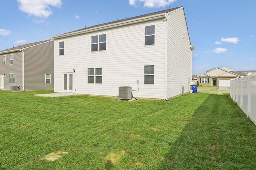
M229 94L210 94L195 111L159 170L256 169L256 128Z

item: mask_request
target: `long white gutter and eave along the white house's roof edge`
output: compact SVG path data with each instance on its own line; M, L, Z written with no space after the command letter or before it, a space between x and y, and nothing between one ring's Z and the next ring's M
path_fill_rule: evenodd
M127 21L121 21L121 22L115 22L115 23L110 23L110 24L106 24L106 25L101 25L98 27L92 27L92 28L88 28L88 29L83 29L80 31L74 31L74 32L70 32L70 33L64 33L61 35L56 35L54 37L51 37L51 39L58 39L58 38L63 38L63 37L69 37L69 36L74 36L74 35L79 35L79 34L83 34L83 33L90 33L92 31L100 31L100 30L104 30L104 29L110 29L113 27L120 27L120 26L124 26L124 25L129 25L129 24L134 24L134 23L140 23L140 22L144 22L144 21L150 21L150 20L157 20L160 18L165 18L165 12L161 13L161 14L156 14L154 16L146 16L143 18L136 18L133 20L127 20Z

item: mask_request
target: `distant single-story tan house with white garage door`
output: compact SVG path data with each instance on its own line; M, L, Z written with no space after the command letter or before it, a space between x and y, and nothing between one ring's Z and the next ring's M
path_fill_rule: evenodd
M244 72L236 72L229 68L214 68L198 76L199 86L226 86L230 87L230 79L246 76Z

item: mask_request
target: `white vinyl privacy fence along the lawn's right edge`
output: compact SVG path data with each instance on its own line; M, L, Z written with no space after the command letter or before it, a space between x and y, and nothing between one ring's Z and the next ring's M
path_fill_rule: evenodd
M230 97L256 125L256 74L230 80Z

